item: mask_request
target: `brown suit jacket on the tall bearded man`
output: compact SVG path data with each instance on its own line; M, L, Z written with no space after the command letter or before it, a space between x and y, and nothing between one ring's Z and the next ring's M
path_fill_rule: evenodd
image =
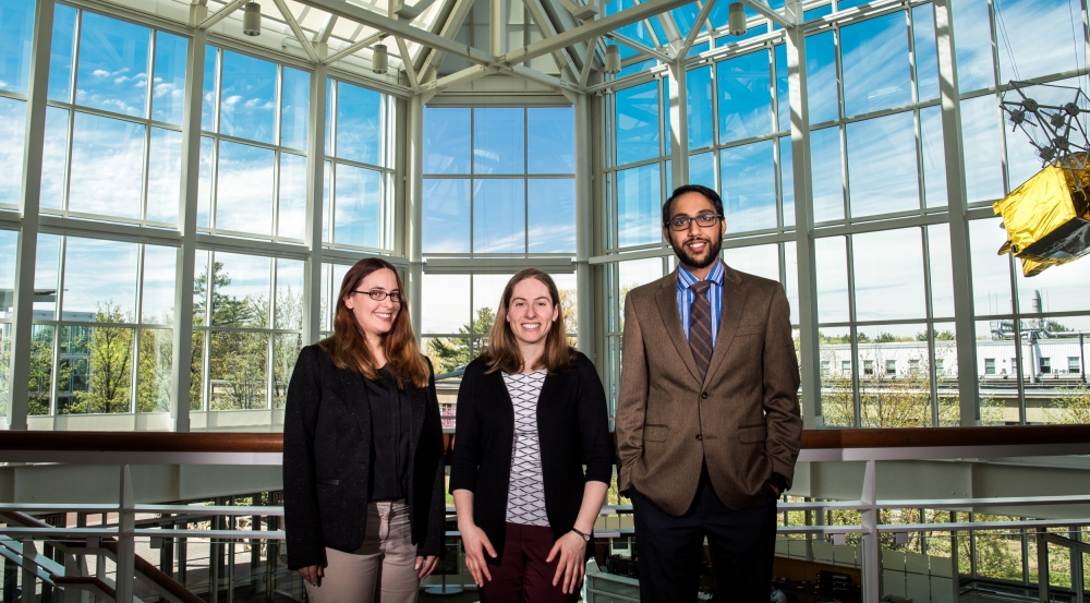
M758 505L773 472L795 475L799 365L784 288L724 266L723 314L703 383L681 326L677 273L629 291L617 402L618 485L680 516L701 462L728 508Z

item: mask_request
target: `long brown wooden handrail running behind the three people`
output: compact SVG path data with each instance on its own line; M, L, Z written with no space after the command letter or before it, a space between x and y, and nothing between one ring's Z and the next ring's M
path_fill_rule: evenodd
M450 450L455 435L444 434ZM802 432L803 449L918 448L1090 443L1090 425L824 429ZM279 433L0 431L0 450L100 453L282 453Z

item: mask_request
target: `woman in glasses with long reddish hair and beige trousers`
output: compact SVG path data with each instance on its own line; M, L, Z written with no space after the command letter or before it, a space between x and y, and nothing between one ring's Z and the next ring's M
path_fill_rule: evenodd
M315 603L416 601L443 546L443 427L393 266L358 262L299 354L283 425L288 567Z

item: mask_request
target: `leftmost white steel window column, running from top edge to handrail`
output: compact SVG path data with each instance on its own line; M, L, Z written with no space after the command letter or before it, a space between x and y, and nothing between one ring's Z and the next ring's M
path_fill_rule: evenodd
M34 323L34 272L38 253L38 207L41 198L41 162L46 137L46 93L49 88L49 51L53 38L53 0L39 0L34 12L31 73L26 91L26 129L23 133L23 196L20 200L19 239L15 249L15 299L12 309L11 375L8 429L26 430L31 395L31 347Z

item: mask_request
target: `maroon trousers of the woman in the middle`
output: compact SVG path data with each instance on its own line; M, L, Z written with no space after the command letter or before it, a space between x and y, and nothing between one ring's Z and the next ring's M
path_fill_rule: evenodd
M508 523L499 565L488 565L492 581L481 587L481 603L573 603L579 590L564 594L562 581L553 586L559 555L545 563L553 550L553 528ZM562 577L561 577L562 578Z

